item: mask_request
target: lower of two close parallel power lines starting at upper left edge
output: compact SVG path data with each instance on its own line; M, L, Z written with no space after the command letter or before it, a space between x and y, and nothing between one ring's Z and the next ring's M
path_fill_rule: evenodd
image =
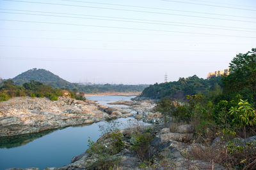
M172 25L172 26L178 26L178 27L194 27L194 28L203 28L203 29L220 29L220 30L226 30L226 31L243 31L243 32L256 32L256 31L246 31L246 30L237 30L237 29L223 29L223 28L217 28L217 26L214 27L199 27L199 26L193 26L193 25L177 25L177 24L163 24L163 23L152 23L152 22L138 22L138 21L131 21L131 20L113 20L113 19L105 19L105 18L88 18L88 17L70 17L70 16L60 16L60 15L44 15L44 14L34 14L34 13L13 13L13 12L3 12L0 11L0 13L12 13L12 14L19 14L19 15L37 15L37 16L46 16L46 17L61 17L61 18L80 18L80 19L90 19L90 20L108 20L108 21L115 21L115 22L131 22L131 23L140 23L140 24L155 24L155 25ZM170 22L172 23L172 22ZM198 24L203 25L203 24Z

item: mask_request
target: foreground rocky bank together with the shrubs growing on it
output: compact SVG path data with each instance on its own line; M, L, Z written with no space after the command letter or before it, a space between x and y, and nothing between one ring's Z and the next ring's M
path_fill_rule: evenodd
M227 142L216 138L210 145L194 143L196 138L193 125L179 125L172 131L163 124L130 127L108 132L90 148L74 157L63 167L50 167L45 170L85 170L85 169L227 169L216 162L207 161L207 153L216 152ZM243 139L233 139L243 145ZM256 136L246 141L256 141ZM254 147L252 145L252 147ZM225 147L224 147L225 148ZM255 149L255 148L254 148ZM201 159L195 155L201 153ZM218 153L218 152L216 152ZM214 153L213 153L214 154ZM17 170L11 168L6 170ZM22 169L19 169L22 170ZM27 168L24 170L38 170Z

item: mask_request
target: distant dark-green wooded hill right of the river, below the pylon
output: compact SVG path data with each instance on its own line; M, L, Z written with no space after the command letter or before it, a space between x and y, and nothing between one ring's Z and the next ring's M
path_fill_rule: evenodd
M188 78L179 78L178 81L170 81L166 83L155 83L145 88L141 93L141 97L149 97L151 99L162 99L171 97L184 101L186 95L194 95L198 93L205 94L209 90L221 90L221 77L212 77L209 80L198 78L198 76L190 76Z

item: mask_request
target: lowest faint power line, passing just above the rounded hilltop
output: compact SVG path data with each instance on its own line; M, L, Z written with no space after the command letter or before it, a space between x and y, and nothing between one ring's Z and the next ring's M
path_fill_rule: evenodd
M68 59L58 59L55 57L45 58L45 57L0 57L0 59L4 60L44 60L44 61L67 61L67 62L102 62L102 63L148 63L148 64L220 64L223 62L230 62L228 60L223 61L170 61L170 60L82 60L82 59L72 59L72 57L68 57Z

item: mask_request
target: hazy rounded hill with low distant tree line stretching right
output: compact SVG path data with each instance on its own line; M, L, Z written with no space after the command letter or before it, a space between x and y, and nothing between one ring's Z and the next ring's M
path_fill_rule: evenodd
M12 79L15 84L23 85L30 80L40 81L46 85L51 85L54 89L69 89L81 91L84 93L102 93L102 92L142 92L147 85L79 85L70 83L56 74L45 69L29 69L28 71L15 76Z

